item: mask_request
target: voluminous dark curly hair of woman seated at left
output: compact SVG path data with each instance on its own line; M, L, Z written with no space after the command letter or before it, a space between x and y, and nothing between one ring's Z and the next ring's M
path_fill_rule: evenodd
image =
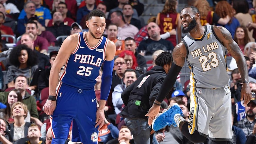
M27 61L28 67L32 67L38 63L37 54L34 51L28 48L27 45L18 45L14 47L10 53L9 59L12 65L16 67L20 66L18 57L20 56L21 50L26 50L28 52L28 61Z

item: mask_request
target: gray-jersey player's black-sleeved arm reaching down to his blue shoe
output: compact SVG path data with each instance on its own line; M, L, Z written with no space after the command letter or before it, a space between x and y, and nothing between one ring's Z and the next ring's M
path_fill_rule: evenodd
M159 113L160 104L176 82L177 76L185 63L186 56L186 47L183 42L180 42L173 50L173 63L162 83L156 100L154 101L154 105L152 105L152 107L148 110L148 113L146 114L146 116L148 116L148 125L151 126L153 119Z

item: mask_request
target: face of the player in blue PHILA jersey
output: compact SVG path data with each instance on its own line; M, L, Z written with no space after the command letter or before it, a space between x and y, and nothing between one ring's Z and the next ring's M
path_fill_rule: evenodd
M103 17L94 16L89 21L86 21L86 25L92 37L100 39L106 27L106 20Z

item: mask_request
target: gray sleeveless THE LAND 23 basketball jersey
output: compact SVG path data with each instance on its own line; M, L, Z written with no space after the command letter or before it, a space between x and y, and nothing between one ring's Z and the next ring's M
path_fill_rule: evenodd
M212 25L205 26L201 39L194 39L187 34L182 41L187 48L190 86L221 88L229 83L226 48L217 38Z

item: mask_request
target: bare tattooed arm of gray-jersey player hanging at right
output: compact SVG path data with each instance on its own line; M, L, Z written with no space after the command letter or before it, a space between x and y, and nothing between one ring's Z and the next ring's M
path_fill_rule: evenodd
M213 26L213 30L219 40L227 48L229 53L236 59L238 70L241 74L243 82L248 82L248 70L247 64L244 58L244 54L239 48L238 44L232 39L230 32L222 26ZM243 83L241 90L241 100L244 99L244 105L247 105L252 98L252 92L249 83Z

